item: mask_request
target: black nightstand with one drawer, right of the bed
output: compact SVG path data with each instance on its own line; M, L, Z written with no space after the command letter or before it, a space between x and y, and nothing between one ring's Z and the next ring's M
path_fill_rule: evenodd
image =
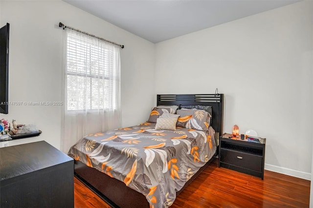
M260 138L260 143L254 143L246 139L224 138L222 135L219 142L219 167L260 177L263 180L266 139Z

